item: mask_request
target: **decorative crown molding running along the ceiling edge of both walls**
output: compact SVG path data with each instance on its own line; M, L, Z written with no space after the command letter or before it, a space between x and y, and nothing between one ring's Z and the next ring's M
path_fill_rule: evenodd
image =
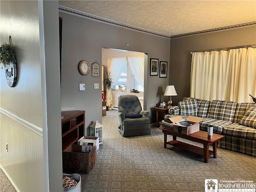
M163 37L163 38L168 38L168 39L180 38L180 37L192 36L192 35L198 35L198 34L206 34L206 33L212 33L212 32L218 32L218 31L223 31L223 30L230 30L230 29L235 29L235 28L242 28L242 27L248 27L248 26L256 25L256 22L249 22L249 23L243 23L243 24L238 24L238 25L232 25L232 26L214 28L214 29L209 29L209 30L179 34L179 35L174 35L174 36L168 36L168 35L165 35L165 34L160 34L160 33L157 33L157 32L150 31L150 30L146 30L146 29L135 27L135 26L123 24L123 23L120 23L120 22L116 22L116 21L109 20L109 19L106 19L106 18L98 17L98 16L95 16L95 15L92 15L92 14L84 13L84 12L74 10L74 9L71 9L71 8L67 8L67 7L64 7L64 6L60 6L60 5L59 5L59 11L60 12L65 12L65 13L68 13L68 14L72 14L72 15L76 15L76 16L80 16L80 17L83 17L83 18L95 20L95 21L98 21L98 22L102 22L102 23L106 23L106 24L110 24L110 25L114 25L114 26L119 26L119 27L122 27L122 28L127 28L127 29L130 29L130 30L143 32L143 33L150 34L150 35L155 35L155 36L160 36L160 37Z

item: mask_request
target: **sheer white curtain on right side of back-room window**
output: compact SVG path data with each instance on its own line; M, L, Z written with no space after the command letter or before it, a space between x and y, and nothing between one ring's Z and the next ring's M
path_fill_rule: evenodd
M144 55L127 57L134 78L138 84L144 87Z

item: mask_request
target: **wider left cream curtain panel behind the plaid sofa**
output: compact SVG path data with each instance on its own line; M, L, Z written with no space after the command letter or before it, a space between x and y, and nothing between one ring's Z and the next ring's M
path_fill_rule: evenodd
M237 63L238 49L192 53L190 96L234 101Z

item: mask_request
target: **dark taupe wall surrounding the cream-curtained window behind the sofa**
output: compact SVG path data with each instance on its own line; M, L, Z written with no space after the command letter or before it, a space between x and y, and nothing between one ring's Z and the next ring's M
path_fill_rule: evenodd
M190 96L190 52L220 50L256 44L256 26L171 39L170 79L178 96L173 96L174 105ZM182 71L182 73L181 73Z

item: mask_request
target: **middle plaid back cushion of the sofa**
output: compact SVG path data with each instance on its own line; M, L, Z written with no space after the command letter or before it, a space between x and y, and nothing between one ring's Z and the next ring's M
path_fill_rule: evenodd
M207 118L226 121L234 120L237 103L233 101L213 100L210 101Z

